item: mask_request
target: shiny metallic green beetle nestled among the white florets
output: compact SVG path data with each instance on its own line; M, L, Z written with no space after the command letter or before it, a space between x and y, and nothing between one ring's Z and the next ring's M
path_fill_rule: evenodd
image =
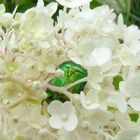
M84 69L81 65L74 63L73 61L66 61L60 64L57 67L57 69L63 70L64 76L53 78L49 82L51 85L55 85L57 87L63 87L67 84L80 80L88 75L86 69ZM86 82L81 82L68 89L68 91L71 93L78 94L83 90L85 85ZM65 95L59 94L57 92L53 92L49 88L46 90L46 93L47 93L47 98L45 99L45 101L47 101L47 103L50 103L53 100L60 100L62 102L69 100Z

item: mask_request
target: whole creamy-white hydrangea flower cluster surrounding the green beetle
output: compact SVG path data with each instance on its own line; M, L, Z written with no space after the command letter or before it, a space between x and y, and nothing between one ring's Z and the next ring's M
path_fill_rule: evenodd
M139 140L140 30L107 5L57 0L25 13L0 5L1 140ZM71 9L69 9L71 8ZM76 82L50 84L66 61L88 72ZM80 94L68 89L86 82ZM46 89L67 96L50 103ZM43 102L42 102L43 101Z

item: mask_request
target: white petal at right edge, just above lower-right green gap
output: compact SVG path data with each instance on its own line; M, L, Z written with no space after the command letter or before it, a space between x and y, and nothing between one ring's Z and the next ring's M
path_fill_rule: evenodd
M140 99L131 97L128 100L128 104L136 111L140 111Z

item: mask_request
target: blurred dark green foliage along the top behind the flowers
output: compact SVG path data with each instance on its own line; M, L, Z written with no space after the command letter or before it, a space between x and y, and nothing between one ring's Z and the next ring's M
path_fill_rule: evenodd
M55 2L55 0L44 0L45 5L50 2ZM18 12L24 12L34 7L37 0L0 0L0 3L5 4L7 12L12 12L16 5L18 5ZM136 24L140 27L140 0L92 0L91 7L102 4L109 5L117 14L122 13L127 25ZM59 8L62 6L59 5Z

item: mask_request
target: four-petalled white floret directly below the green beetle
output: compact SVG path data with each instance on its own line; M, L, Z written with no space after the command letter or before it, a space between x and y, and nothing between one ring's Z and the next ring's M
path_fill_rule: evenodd
M51 114L49 124L52 128L72 131L78 124L75 107L71 102L53 101L48 106L48 112Z

